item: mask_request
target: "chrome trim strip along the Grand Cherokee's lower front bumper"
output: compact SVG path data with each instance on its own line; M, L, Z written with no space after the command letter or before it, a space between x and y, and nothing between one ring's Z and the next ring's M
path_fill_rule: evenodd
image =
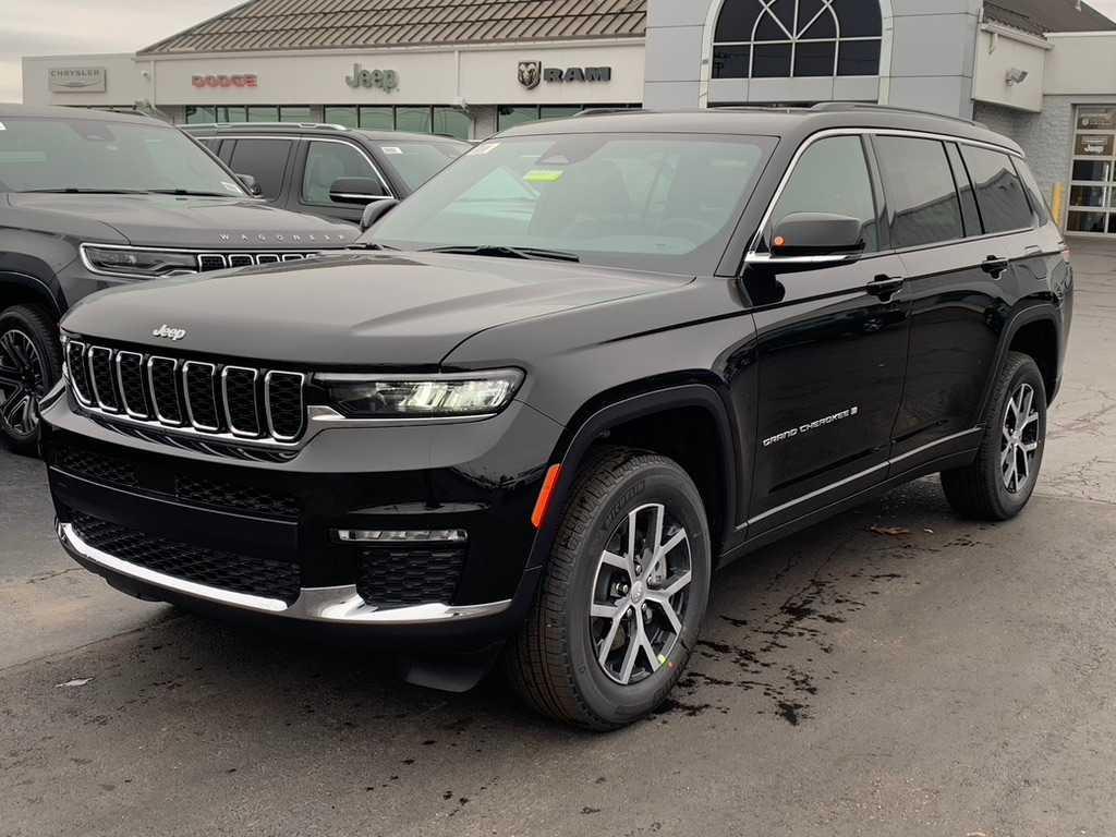
M494 616L511 606L511 599L482 605L443 605L431 603L411 607L378 608L367 604L356 591L355 585L341 587L304 587L292 605L275 598L250 596L244 593L222 590L217 587L186 581L182 578L156 573L137 564L125 561L92 547L70 523L57 525L58 540L67 551L105 569L138 581L163 587L186 596L215 602L242 610L271 614L306 622L326 622L340 625L426 625L431 623L473 619Z

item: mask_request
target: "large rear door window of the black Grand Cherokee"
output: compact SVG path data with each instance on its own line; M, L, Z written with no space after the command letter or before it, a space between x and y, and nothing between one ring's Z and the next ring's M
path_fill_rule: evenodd
M876 137L876 155L897 248L953 241L964 233L945 146L936 140Z

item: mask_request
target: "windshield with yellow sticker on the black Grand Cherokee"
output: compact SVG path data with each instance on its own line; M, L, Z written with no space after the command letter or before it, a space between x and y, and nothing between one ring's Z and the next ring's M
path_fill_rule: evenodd
M365 240L405 250L536 248L597 264L712 273L775 142L498 137L431 180Z

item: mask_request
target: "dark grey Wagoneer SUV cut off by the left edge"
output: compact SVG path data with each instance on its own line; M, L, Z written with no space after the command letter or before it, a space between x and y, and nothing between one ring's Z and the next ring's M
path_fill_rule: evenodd
M0 440L31 450L58 318L113 285L300 259L357 232L267 206L144 116L0 105Z

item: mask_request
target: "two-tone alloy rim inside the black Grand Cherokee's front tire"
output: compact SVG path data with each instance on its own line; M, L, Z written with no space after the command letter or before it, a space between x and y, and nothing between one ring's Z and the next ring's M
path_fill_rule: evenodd
M690 537L660 503L622 520L600 554L589 610L597 663L620 685L638 683L667 663L693 580Z

